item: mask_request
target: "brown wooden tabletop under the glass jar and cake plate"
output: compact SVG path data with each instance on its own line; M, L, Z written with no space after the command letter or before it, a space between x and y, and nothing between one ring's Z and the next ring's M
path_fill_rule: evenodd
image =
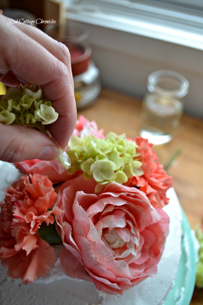
M96 102L78 111L78 116L95 120L104 134L114 131L134 138L139 133L140 109L140 100L103 88ZM203 220L203 120L183 115L172 141L154 149L162 164L181 149L168 174L193 229ZM190 305L203 305L203 289L195 288Z

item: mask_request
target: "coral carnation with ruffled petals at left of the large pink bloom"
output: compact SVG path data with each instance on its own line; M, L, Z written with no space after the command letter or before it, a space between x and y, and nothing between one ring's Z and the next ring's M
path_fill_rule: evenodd
M62 211L53 207L57 194L47 176L23 176L5 190L0 212L0 259L11 278L32 283L54 266L54 249L40 239L42 222L54 223ZM47 211L49 210L49 211ZM51 214L54 214L51 215Z

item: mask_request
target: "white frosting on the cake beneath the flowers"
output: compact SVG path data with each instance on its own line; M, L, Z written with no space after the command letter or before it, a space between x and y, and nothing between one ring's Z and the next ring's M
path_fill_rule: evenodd
M0 161L0 201L4 189L16 181L21 174L15 166ZM170 198L163 210L170 217L169 235L163 255L158 263L158 271L153 278L147 278L123 295L109 295L99 292L93 283L69 278L62 271L59 254L61 246L56 246L58 259L49 274L38 278L32 284L22 285L20 280L8 277L7 270L0 267L0 300L2 305L161 305L173 287L181 256L181 208L173 188L167 192ZM174 238L175 236L175 238Z

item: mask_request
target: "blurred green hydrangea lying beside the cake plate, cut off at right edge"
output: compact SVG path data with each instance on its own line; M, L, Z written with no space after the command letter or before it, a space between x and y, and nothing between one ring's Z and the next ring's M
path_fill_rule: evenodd
M195 228L195 235L199 242L198 262L197 262L197 273L196 273L196 286L203 288L203 227L198 225Z

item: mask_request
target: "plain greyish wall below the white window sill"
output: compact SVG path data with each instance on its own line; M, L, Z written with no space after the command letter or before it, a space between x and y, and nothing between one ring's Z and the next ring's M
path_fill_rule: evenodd
M179 72L190 82L185 112L203 118L203 51L120 30L76 22L89 30L102 85L142 98L150 73Z

